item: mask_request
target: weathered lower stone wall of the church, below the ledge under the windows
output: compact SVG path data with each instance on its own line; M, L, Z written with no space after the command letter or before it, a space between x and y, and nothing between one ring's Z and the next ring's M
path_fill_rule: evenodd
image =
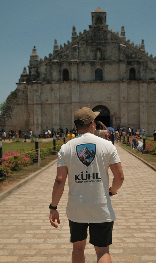
M73 128L74 112L103 105L116 127L144 127L152 135L156 128L156 82L36 82L18 84L17 97L8 97L8 108L0 118L7 132L42 133L43 129ZM5 124L5 125L3 125Z

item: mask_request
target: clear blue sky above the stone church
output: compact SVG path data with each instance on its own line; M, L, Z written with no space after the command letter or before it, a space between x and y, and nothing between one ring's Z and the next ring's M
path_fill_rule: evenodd
M48 57L54 39L71 42L73 26L77 34L89 29L98 6L107 12L109 30L120 34L124 26L126 40L136 45L144 38L146 52L156 56L155 0L0 0L0 104L16 89L33 46L40 58Z

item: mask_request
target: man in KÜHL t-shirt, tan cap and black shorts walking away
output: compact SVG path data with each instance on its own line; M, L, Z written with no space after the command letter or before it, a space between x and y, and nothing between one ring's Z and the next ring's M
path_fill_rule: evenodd
M60 224L57 205L68 174L66 212L73 243L73 263L85 262L88 226L89 242L94 245L97 262L112 262L109 245L112 244L113 221L116 219L110 196L117 193L124 176L115 146L111 141L94 135L95 118L99 113L87 107L77 110L74 123L79 135L62 145L58 153L49 218L51 225L57 228L57 223ZM108 165L114 176L112 186L108 185ZM112 194L109 196L109 193Z

